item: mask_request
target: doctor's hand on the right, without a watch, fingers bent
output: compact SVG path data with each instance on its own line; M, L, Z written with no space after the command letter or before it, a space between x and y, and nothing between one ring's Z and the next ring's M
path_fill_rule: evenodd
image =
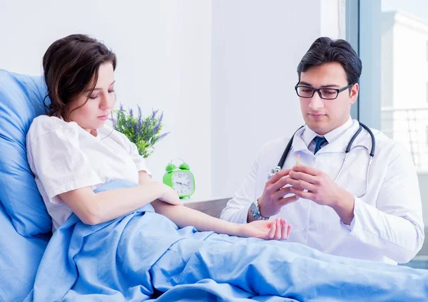
M332 207L345 224L350 224L354 218L354 195L336 184L327 173L297 165L292 167L286 180L292 185L292 194Z

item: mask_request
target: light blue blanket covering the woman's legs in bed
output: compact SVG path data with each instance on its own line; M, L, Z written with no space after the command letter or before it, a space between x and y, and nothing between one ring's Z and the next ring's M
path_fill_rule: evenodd
M130 187L111 182L99 190ZM118 200L118 202L121 202ZM26 301L427 301L428 271L178 229L150 204L56 231Z

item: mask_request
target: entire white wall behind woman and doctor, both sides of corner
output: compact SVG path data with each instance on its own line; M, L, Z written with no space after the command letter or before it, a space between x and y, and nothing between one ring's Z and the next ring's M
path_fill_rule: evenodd
M302 124L297 64L318 36L342 37L343 6L344 0L0 0L0 68L41 74L46 48L70 33L105 41L118 56L118 102L165 113L171 134L148 158L155 179L170 159L183 157L195 173L196 197L228 197L264 142Z

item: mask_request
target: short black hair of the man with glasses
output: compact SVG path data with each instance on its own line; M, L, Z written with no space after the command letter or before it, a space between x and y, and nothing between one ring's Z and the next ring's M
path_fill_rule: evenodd
M348 84L358 83L362 71L362 63L350 43L345 40L321 37L310 46L297 66L297 74L304 73L313 66L337 62L345 69Z

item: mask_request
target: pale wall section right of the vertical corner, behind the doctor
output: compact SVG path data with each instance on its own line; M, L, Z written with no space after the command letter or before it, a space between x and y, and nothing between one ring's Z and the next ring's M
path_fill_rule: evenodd
M292 135L302 125L294 90L297 65L319 36L344 34L339 5L342 1L213 1L211 158L216 196L233 194L265 142Z

